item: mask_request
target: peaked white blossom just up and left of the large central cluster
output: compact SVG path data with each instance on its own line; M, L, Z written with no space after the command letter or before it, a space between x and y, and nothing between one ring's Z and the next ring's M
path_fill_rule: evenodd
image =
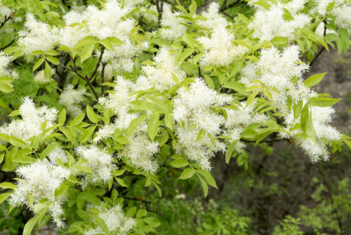
M180 70L168 49L162 47L154 56L154 65L143 66L145 75L138 77L136 90L155 88L159 91L170 89L185 78L185 72Z

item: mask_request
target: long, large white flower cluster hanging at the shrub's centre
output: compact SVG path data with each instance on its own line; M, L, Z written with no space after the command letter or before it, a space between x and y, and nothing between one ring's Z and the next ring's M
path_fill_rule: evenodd
M199 163L204 169L211 169L210 158L217 151L225 150L225 144L213 139L213 136L220 133L220 125L225 119L214 113L212 108L224 106L231 101L231 96L209 89L199 78L190 87L181 87L173 100L173 117L178 123L176 151ZM206 134L197 140L200 132Z

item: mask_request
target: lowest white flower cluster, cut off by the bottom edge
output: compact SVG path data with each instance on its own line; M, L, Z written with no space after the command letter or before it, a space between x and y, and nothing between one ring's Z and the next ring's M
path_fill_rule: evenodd
M107 209L98 207L99 217L105 222L111 234L125 235L131 232L135 226L135 220L124 216L120 205ZM105 234L104 230L96 224L94 229L84 231L84 235Z

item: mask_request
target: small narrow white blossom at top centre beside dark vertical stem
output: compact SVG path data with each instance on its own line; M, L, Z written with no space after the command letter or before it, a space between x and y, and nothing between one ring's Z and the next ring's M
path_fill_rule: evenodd
M184 23L184 20L178 18L178 15L180 15L180 12L173 12L170 5L164 4L161 19L162 28L160 29L162 37L174 40L177 37L181 37L187 31L187 27L181 24Z

